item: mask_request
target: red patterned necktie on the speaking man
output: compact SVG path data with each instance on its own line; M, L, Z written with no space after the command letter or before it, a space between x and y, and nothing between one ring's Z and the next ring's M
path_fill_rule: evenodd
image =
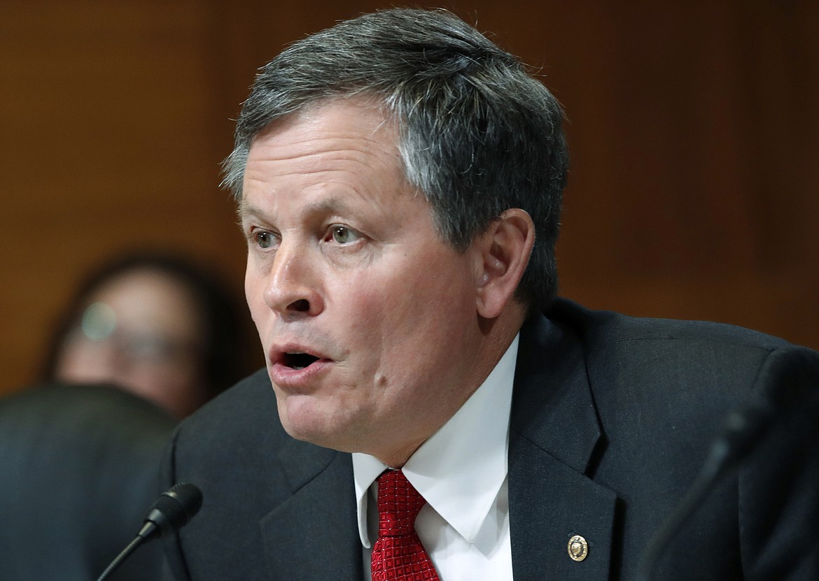
M415 532L415 517L427 501L400 470L378 476L378 541L373 581L439 581Z

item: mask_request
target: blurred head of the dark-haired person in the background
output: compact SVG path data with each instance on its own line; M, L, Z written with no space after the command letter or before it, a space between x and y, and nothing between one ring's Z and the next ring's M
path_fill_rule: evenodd
M119 256L79 285L52 337L43 377L113 383L186 417L256 367L246 312L188 259Z

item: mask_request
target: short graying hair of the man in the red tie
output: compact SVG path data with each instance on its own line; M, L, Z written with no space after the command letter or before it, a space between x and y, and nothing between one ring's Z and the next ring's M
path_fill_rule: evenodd
M242 199L248 151L271 122L349 97L377 101L398 122L406 178L455 248L505 209L527 211L535 246L517 296L530 312L545 309L558 286L563 110L515 56L449 12L373 12L287 47L260 69L242 106L223 186Z

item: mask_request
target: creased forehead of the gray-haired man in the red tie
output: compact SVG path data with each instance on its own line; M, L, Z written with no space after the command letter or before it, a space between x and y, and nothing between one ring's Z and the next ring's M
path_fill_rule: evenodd
M423 200L414 196L402 168L396 124L378 106L355 99L328 101L278 119L256 136L240 214L259 205L278 213L330 202L395 210L400 199Z

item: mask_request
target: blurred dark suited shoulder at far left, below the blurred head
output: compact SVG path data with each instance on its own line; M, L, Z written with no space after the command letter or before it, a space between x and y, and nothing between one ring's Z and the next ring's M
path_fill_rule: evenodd
M138 533L158 496L175 421L113 386L38 385L0 399L0 579L89 581ZM159 579L161 546L111 581Z

